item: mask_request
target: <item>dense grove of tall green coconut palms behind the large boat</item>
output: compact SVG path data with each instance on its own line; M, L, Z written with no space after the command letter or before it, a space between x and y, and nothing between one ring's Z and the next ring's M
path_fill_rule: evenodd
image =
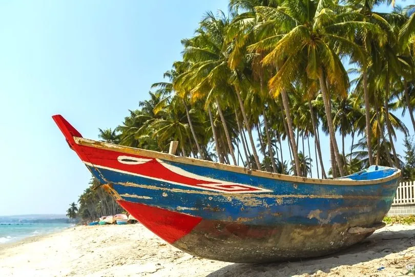
M392 12L376 12L380 4ZM161 152L178 141L177 155L304 177L383 165L410 179L414 16L415 5L390 0L231 0L229 11L201 16L181 41L182 60L99 137ZM412 126L401 121L408 113Z

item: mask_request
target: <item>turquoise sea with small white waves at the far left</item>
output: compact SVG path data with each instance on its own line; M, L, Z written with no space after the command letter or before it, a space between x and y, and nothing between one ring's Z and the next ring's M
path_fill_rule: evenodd
M65 215L33 214L0 216L0 244L74 226Z

